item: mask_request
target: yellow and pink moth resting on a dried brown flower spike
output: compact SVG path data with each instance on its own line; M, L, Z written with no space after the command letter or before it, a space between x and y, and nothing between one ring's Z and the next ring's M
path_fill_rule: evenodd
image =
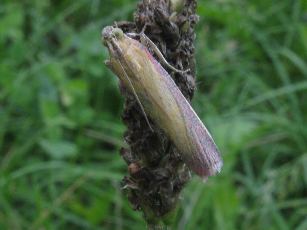
M206 181L223 166L220 151L172 77L142 43L130 37L135 35L106 26L102 43L110 60L105 64L134 95L148 125L147 115L170 137L187 167ZM139 36L150 43L146 35ZM154 51L164 59L157 48Z

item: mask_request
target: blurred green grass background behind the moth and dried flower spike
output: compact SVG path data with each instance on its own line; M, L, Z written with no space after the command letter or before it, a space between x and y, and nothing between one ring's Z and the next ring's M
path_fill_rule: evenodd
M145 229L118 154L124 97L100 32L140 0L0 3L0 229ZM173 229L307 229L307 2L199 1L192 106L222 172Z

